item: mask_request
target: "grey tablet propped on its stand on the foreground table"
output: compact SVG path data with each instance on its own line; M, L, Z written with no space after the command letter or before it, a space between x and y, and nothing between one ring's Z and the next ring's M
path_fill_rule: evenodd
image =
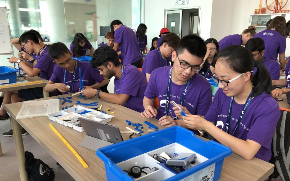
M85 138L80 146L96 151L98 148L123 141L117 126L79 117L85 131Z

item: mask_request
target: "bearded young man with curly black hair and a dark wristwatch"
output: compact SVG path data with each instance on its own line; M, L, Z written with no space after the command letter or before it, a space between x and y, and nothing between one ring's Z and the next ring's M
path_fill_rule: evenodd
M82 95L86 97L95 96L98 99L120 104L140 113L144 111L142 102L147 81L138 68L130 64L121 65L117 52L109 46L96 49L91 65L94 68L98 68L100 74L105 78L110 79L115 76L114 94L86 88Z

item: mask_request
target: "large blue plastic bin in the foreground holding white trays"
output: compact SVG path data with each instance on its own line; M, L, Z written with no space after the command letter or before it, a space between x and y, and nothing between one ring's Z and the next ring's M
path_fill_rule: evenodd
M172 174L173 176L165 179L166 181L192 178L192 176L196 176L195 173L198 172L197 174L199 174L199 171L206 170L210 166L211 169L214 170L210 181L218 180L221 175L224 158L232 154L231 149L222 144L215 141L205 141L196 137L193 132L187 129L180 126L173 126L134 139L99 148L97 150L97 155L104 161L107 180L133 181L134 179L117 166L118 163L139 155L142 157L142 154L173 143L178 143L195 151L201 156L208 158L208 160L176 175ZM215 165L212 166L213 164ZM156 172L158 172L158 170ZM140 180L146 180L144 178L147 176L142 177Z

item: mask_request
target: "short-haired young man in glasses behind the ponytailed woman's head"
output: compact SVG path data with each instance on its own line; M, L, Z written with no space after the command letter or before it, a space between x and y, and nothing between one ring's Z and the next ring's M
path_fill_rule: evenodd
M279 80L280 78L280 64L275 60L269 58L264 58L265 53L265 43L262 38L252 38L247 41L246 46L249 49L256 62L263 63L268 69L272 80ZM253 74L255 74L257 68L254 68Z

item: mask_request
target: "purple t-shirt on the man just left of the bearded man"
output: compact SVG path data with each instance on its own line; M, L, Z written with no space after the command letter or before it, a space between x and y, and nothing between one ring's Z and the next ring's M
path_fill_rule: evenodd
M68 70L61 68L58 65L54 66L53 74L49 80L53 81L53 83L59 83L59 82L63 83L64 72L66 70L66 85L70 86L70 90L66 92L66 94L79 92L79 87L80 87L79 68L81 68L82 80L83 80L84 85L91 86L97 82L101 83L103 81L103 76L100 75L100 71L97 68L92 68L89 62L82 62L82 61L77 61L77 60L75 61L77 62L75 81L73 81L74 73L69 73ZM73 90L71 90L73 82L74 82Z

